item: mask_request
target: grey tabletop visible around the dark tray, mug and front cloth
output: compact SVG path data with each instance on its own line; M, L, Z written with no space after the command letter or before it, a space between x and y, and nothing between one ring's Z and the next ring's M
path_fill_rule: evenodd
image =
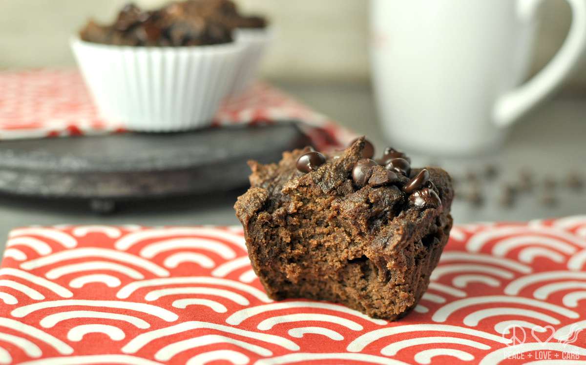
M381 151L386 145L377 124L370 88L366 85L279 86L341 125L367 135ZM461 175L466 169L482 168L486 161L501 170L499 180L483 183L486 203L473 207L456 200L452 212L456 223L492 220L530 220L586 214L586 190L575 193L558 187L558 204L546 207L538 195L520 197L513 207L495 202L499 185L517 179L519 168L527 167L539 176L563 176L570 169L586 173L586 96L560 95L512 127L502 151L492 156L468 159L433 159L449 172ZM418 162L430 162L415 157ZM127 203L114 216L97 216L78 202L51 202L0 196L0 252L4 237L13 227L34 224L143 224L147 226L190 224L238 224L233 204L242 191L181 199Z

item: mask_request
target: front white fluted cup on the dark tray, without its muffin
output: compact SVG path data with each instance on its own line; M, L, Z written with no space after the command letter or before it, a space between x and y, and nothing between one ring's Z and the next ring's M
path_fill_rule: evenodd
M74 38L71 49L106 120L131 131L175 132L212 124L244 47L111 46Z

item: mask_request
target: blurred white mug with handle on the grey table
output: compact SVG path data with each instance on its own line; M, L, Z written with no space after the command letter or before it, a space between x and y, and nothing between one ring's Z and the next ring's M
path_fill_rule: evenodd
M551 95L586 49L586 0L567 0L563 46L519 86L541 1L372 0L372 77L387 138L440 155L498 148L506 127Z

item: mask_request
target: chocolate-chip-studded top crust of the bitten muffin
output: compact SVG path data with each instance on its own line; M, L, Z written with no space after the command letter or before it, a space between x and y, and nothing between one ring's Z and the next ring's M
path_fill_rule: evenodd
M323 154L307 147L285 152L279 163L251 161L251 189L239 197L237 216L247 226L260 210L277 219L321 199L326 203L316 211L335 211L350 230L391 237L395 223L434 220L449 212L454 190L447 172L412 169L410 158L393 148L373 158L373 145L359 138L344 151Z

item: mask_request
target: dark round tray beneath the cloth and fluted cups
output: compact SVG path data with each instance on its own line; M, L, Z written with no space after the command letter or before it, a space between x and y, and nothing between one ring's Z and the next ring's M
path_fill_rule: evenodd
M193 195L246 186L248 159L275 162L309 145L294 122L176 134L115 134L0 142L0 193L119 200Z

